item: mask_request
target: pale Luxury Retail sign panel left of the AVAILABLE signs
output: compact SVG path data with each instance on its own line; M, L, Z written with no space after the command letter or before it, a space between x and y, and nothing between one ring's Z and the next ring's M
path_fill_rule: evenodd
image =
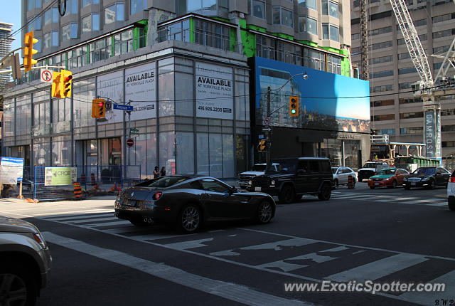
M123 70L97 77L97 97L102 99L109 98L109 101L115 104L124 104ZM107 121L98 122L98 124L123 122L123 110L107 112L106 119Z

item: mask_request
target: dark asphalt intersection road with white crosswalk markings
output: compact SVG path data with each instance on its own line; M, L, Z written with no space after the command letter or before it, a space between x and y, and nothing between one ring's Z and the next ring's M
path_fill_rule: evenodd
M455 212L446 190L341 187L279 204L264 226L181 235L113 217L112 198L19 204L2 214L43 232L53 254L38 305L443 305L455 300ZM444 292L289 292L322 280L445 283ZM320 289L320 287L319 287ZM442 299L442 300L441 300ZM439 300L439 303L437 303Z

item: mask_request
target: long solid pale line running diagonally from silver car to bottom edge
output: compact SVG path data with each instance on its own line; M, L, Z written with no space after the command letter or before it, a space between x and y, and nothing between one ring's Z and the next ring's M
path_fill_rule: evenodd
M91 244L77 241L72 238L58 236L55 233L44 232L43 235L46 241L57 244L58 246L63 246L64 248L69 248L71 250L85 253L96 258L101 258L102 260L109 260L113 263L124 265L134 270L139 270L154 277L168 280L172 283L177 283L185 287L190 287L192 289L210 293L211 295L217 295L227 300L240 302L245 305L314 305L309 302L289 300L284 297L269 295L267 293L254 290L250 287L246 287L244 285L237 285L235 283L228 283L222 280L205 278L201 275L188 273L184 270L174 268L171 265L166 265L164 263L154 263L153 261L137 258L127 253L119 252L117 250L100 248L98 246L93 246Z

